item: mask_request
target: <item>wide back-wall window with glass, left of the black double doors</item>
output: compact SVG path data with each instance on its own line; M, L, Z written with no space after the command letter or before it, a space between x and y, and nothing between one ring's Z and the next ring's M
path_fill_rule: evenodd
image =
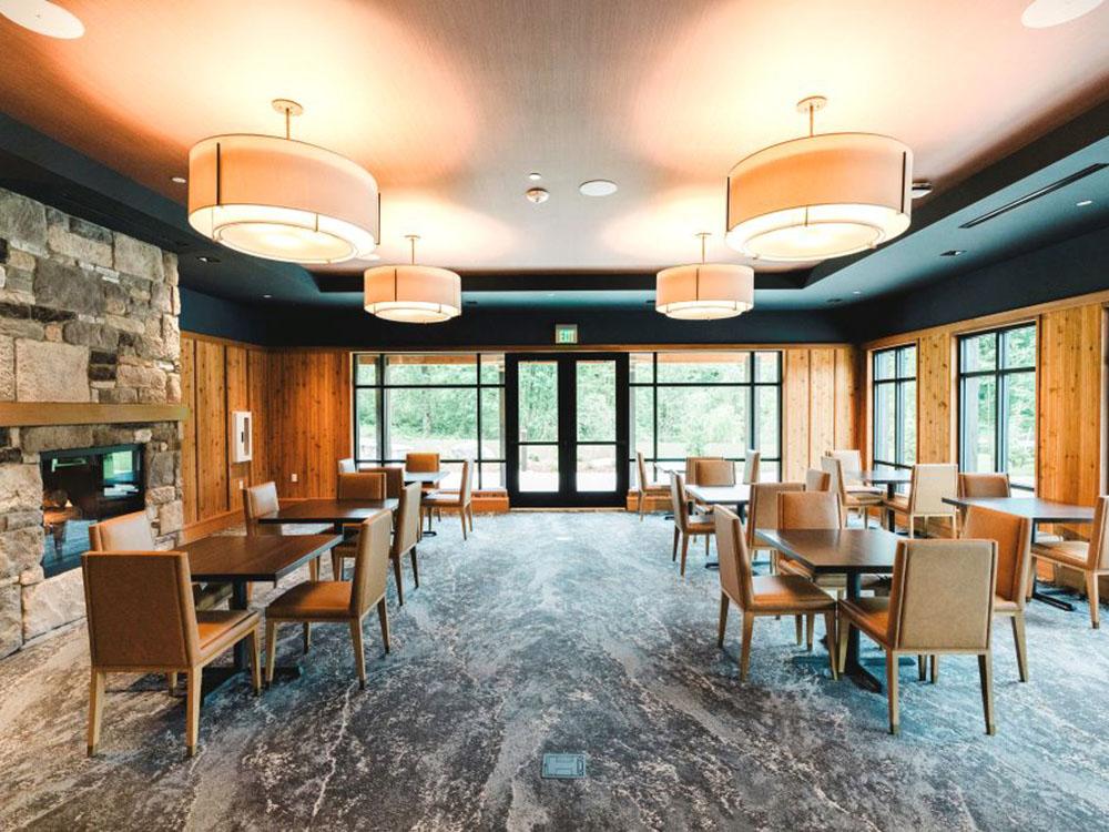
M355 461L404 463L411 450L439 454L457 487L464 459L477 488L505 480L505 356L354 356Z

